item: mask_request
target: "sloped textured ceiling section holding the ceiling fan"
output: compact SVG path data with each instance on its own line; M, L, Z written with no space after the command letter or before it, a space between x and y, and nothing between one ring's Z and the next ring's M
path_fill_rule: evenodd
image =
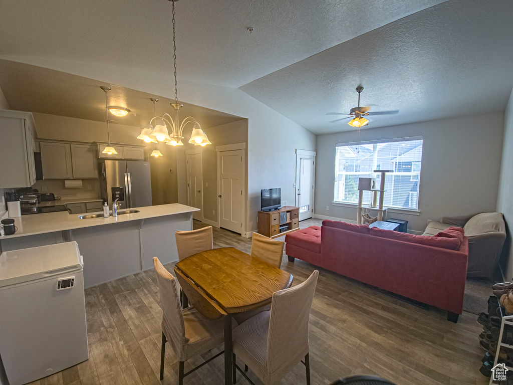
M513 1L452 0L375 29L241 89L317 133L353 129L329 112L358 104L370 127L504 111L513 87ZM340 116L342 118L343 116Z

